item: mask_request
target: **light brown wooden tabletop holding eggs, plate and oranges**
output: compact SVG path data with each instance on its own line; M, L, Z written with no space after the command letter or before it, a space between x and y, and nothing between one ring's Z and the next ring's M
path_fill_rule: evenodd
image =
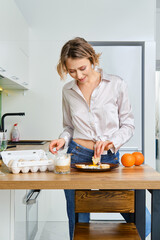
M3 165L0 168L0 189L160 189L160 173L142 165L123 167L108 172L81 172L70 174L53 172L12 174Z

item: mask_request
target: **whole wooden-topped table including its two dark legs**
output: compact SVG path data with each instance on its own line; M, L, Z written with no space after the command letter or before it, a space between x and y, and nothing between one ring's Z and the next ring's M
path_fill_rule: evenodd
M145 239L145 190L151 193L152 240L160 237L160 174L142 165L130 168L118 167L109 172L80 172L70 174L53 172L11 174L5 166L0 169L0 189L135 189L135 223L142 239Z

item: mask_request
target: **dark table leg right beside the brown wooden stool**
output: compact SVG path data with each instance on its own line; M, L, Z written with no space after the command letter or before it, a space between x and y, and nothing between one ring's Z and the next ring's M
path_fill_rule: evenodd
M146 192L135 190L135 224L142 240L145 239Z

